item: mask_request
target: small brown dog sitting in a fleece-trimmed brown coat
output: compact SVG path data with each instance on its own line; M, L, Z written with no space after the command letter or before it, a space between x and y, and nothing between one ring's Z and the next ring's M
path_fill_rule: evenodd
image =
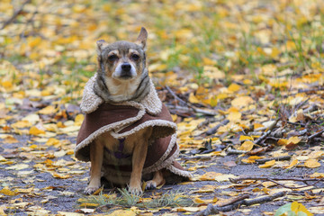
M97 41L98 71L85 85L75 150L76 158L91 161L86 194L101 186L102 176L135 194L142 193L142 179L153 177L151 189L166 183L164 175L190 176L175 161L176 125L148 76L147 38L141 28L135 43Z

